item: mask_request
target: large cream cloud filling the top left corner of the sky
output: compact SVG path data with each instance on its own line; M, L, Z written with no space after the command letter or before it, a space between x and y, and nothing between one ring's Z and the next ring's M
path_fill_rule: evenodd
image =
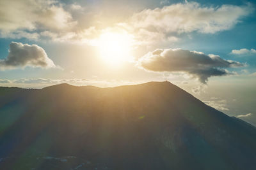
M0 13L1 37L16 34L18 38L31 38L31 31L63 31L77 24L60 3L51 0L1 0Z

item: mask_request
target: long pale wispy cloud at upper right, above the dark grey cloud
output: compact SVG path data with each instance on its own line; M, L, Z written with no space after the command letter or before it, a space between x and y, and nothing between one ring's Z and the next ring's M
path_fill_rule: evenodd
M252 11L249 3L244 6L224 4L214 8L186 2L135 13L131 23L138 29L151 32L215 33L231 29Z

